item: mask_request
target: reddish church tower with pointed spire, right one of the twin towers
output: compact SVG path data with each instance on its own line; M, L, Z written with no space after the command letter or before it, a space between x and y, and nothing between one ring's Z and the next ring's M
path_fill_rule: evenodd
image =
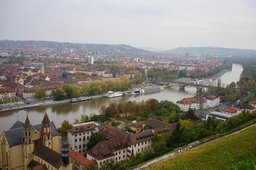
M45 111L44 119L41 124L42 135L41 140L45 146L52 149L52 134L51 134L51 122L48 118L48 115Z

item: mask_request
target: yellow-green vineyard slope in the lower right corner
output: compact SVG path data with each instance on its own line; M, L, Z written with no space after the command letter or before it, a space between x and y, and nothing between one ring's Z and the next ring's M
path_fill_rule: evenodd
M156 165L159 169L223 169L230 161L239 161L256 153L256 126L238 134L186 152L178 157Z

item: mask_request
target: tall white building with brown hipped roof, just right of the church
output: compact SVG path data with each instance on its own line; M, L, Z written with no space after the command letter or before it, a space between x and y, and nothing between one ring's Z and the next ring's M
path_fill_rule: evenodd
M67 130L70 151L74 149L82 155L86 154L86 144L88 144L92 132L98 132L99 129L100 124L97 122L86 122L73 125L73 128Z

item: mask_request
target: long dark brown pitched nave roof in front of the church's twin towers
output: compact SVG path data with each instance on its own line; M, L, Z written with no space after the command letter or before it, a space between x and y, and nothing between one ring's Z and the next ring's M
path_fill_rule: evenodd
M36 142L35 150L32 153L45 160L57 169L59 169L63 163L60 153L48 148L47 146L44 146L39 142Z

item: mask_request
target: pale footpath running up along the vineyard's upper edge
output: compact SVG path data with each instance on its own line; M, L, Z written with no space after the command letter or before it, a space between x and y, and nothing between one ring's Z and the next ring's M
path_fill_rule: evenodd
M255 126L255 125L256 125L256 124L252 124L251 126L248 126L248 127L244 128L244 129L250 128L250 127ZM167 154L167 155L164 155L164 156L162 156L162 157L155 158L154 160L149 160L149 161L147 161L147 162L144 162L143 164L138 165L137 167L134 167L134 166L133 166L133 167L130 168L130 169L132 169L132 170L138 170L138 169L140 169L140 170L146 170L146 169L149 168L149 166L150 166L150 167L154 167L154 166L156 166L157 164L160 164L160 163L162 163L162 162L165 162L165 161L167 161L167 160L169 160L169 159L171 159L171 158L177 157L177 156L179 156L179 155L181 155L181 154L183 154L183 153L192 151L192 150L197 149L197 148L199 148L199 147L201 147L201 146L204 146L204 145L206 145L206 144L215 142L215 141L217 141L217 140L219 140L219 139L228 137L228 136L230 136L230 135L238 134L238 133L240 133L240 132L241 132L242 130L244 130L244 129L238 130L238 131L236 131L236 132L234 132L234 133L230 133L230 134L228 134L228 135L226 135L226 136L223 136L223 137L219 137L219 138L214 139L214 140L212 140L212 141L205 142L205 143L203 143L203 144L199 144L198 146L193 147L192 149L189 149L189 150L187 150L187 151L183 151L183 152L178 152L178 151L176 151L176 152L172 152L172 153L169 153L169 154Z

